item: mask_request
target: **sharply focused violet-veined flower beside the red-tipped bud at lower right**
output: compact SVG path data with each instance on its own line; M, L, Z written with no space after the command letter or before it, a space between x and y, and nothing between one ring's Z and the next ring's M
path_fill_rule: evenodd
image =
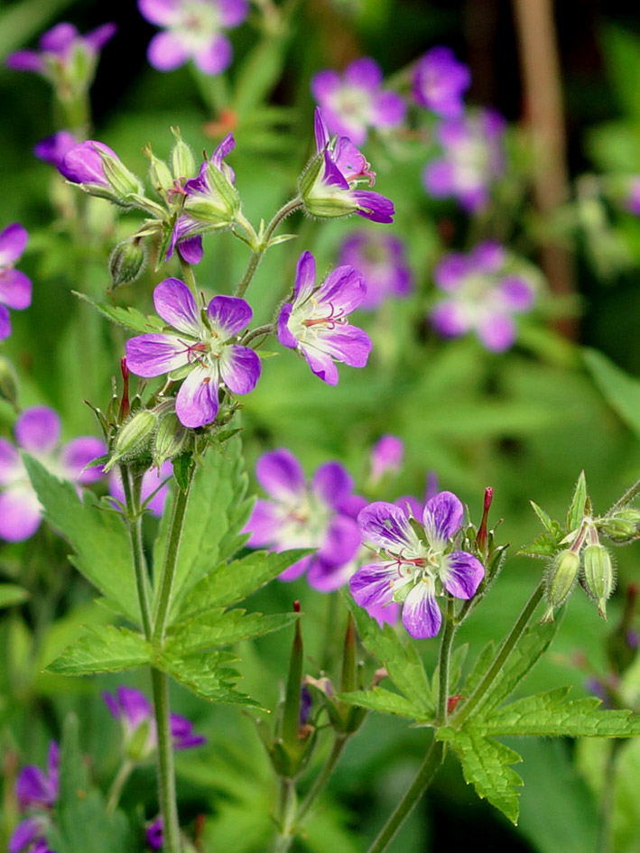
M463 508L451 492L440 492L424 507L424 537L403 510L377 501L357 516L364 539L381 549L382 562L358 569L349 582L360 607L403 602L403 625L416 639L438 634L441 611L436 596L472 598L485 576L482 563L454 551L453 537L462 525Z

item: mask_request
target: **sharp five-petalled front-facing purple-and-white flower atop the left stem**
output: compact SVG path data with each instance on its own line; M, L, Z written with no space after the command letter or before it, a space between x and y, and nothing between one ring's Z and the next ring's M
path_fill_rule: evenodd
M232 343L251 320L251 307L236 296L214 296L205 321L187 285L175 278L158 284L153 301L172 330L128 340L127 366L145 377L184 368L187 374L176 397L176 413L186 427L211 423L218 414L222 383L233 394L248 394L260 377L255 351Z

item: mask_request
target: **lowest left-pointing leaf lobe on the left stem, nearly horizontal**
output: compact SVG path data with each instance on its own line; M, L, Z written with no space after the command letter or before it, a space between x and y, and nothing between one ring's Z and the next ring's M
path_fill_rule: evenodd
M90 630L90 634L66 648L47 670L59 675L93 675L120 672L151 662L150 645L128 628L107 625Z

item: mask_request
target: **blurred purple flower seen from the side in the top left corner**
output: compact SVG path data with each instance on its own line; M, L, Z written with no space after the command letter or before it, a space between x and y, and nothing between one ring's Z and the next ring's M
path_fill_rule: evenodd
M56 87L82 91L94 77L98 54L116 30L115 23L104 23L80 35L72 23L58 23L41 36L38 51L15 51L5 64L15 71L42 74Z

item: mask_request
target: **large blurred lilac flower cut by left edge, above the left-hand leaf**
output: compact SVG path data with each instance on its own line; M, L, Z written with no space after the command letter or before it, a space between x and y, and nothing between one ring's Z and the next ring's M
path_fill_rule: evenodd
M60 418L48 406L27 409L15 423L17 447L0 438L0 539L22 542L36 532L42 507L24 468L18 448L26 450L52 474L81 486L102 477L102 468L86 468L107 452L105 443L81 436L60 451Z

